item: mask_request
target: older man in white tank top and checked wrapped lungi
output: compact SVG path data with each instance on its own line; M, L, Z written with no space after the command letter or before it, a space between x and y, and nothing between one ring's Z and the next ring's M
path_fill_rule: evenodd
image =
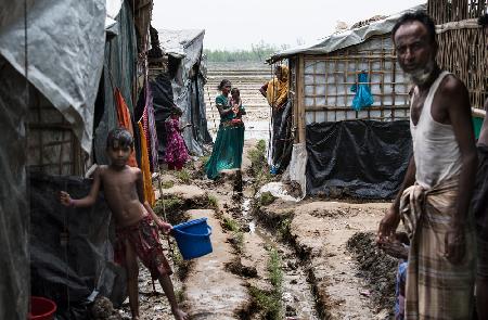
M402 15L391 37L398 63L415 86L413 155L377 241L393 241L403 220L411 241L406 319L471 319L475 239L470 205L477 154L468 92L437 65L435 24L427 14Z

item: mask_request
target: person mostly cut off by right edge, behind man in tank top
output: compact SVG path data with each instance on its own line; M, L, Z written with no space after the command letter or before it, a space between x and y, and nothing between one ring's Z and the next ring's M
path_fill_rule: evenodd
M488 14L478 20L485 35L488 33ZM488 99L484 105L488 113ZM478 266L476 273L476 311L478 319L488 318L488 118L485 115L478 142L478 171L476 175L473 213L476 221Z

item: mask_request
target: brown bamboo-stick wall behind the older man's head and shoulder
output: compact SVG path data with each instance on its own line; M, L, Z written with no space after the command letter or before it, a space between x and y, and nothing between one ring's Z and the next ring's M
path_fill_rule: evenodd
M435 23L442 25L479 17L487 12L487 1L431 0L427 10ZM483 107L488 97L487 38L483 29L476 24L471 27L460 24L438 34L437 41L437 61L440 67L452 72L466 85L473 107Z

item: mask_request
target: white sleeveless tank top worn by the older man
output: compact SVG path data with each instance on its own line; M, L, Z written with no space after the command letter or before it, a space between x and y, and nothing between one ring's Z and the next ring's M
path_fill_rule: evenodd
M413 140L416 182L431 189L461 171L461 152L451 125L440 124L432 117L432 102L442 81L449 75L442 72L428 90L419 123L413 125L410 116L410 131ZM410 104L410 111L413 98ZM411 114L411 112L410 112Z

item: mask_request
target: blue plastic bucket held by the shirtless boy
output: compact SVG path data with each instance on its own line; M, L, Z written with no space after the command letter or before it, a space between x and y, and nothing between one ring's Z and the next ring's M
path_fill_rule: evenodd
M172 231L184 260L211 253L211 227L207 225L207 218L174 226Z

